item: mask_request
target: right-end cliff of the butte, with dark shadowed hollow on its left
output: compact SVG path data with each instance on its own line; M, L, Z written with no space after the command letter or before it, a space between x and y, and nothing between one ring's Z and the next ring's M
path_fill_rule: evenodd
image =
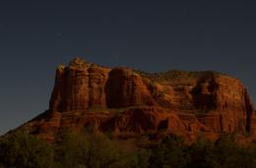
M212 111L209 115L215 116L213 121L219 123L219 132L250 132L253 107L246 88L238 80L222 76L199 82L194 87L193 99L199 109Z

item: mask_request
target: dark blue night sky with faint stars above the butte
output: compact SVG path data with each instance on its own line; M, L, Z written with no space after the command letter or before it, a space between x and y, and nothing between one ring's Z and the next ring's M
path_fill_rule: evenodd
M1 1L0 134L48 108L56 66L76 55L150 72L220 71L256 104L256 3L211 2Z

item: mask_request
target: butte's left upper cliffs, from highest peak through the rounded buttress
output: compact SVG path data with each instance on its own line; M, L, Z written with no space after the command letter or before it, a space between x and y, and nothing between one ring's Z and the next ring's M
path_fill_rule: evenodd
M156 104L139 75L125 68L113 70L78 58L70 66L59 66L50 100L52 111L87 110Z

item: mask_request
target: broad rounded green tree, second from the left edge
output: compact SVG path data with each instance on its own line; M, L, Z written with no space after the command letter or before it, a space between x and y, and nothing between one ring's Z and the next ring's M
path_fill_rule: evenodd
M113 141L105 137L71 134L59 143L59 167L122 167L124 157Z

